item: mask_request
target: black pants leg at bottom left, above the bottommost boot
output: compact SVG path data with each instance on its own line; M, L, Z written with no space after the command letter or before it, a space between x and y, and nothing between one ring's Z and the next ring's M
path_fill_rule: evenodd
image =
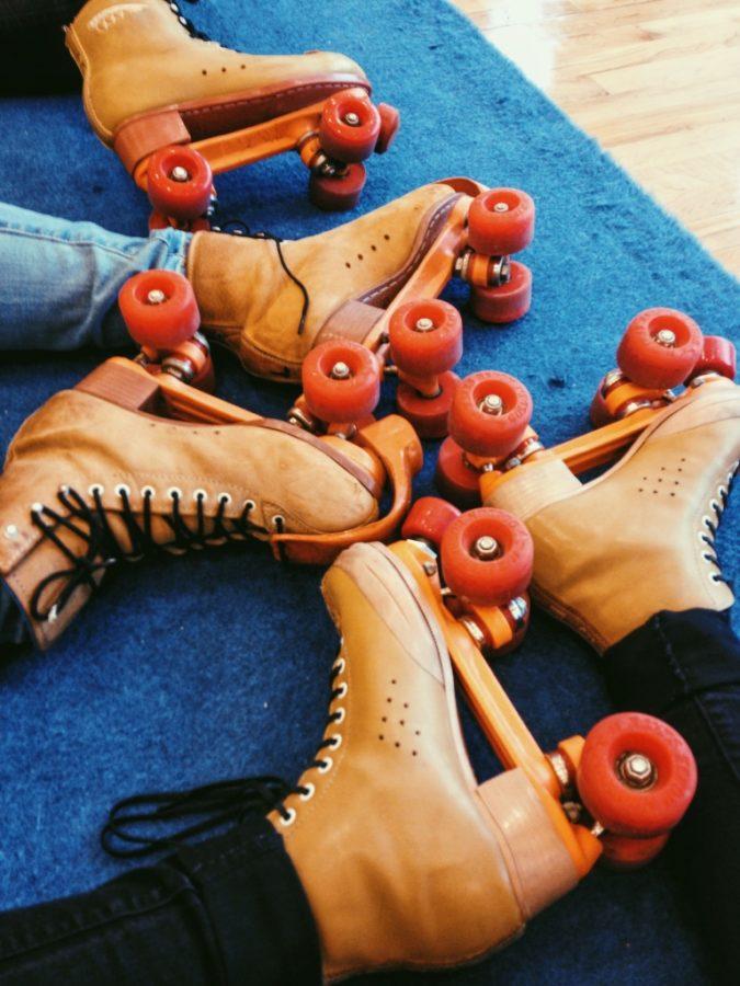
M262 817L91 893L0 915L3 986L320 982L308 902Z

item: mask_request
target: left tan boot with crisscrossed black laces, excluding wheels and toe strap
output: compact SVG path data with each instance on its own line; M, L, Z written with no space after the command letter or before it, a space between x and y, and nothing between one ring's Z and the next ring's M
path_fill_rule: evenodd
M219 425L160 417L146 410L157 383L144 372L134 379L150 392L127 379L119 389L132 406L121 406L96 388L106 366L24 423L0 477L0 577L39 646L122 560L344 531L377 516L380 484L363 449L258 415Z

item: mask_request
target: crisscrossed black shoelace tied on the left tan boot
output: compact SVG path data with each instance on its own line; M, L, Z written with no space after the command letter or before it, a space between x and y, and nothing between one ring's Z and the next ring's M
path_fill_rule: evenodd
M65 514L42 504L34 506L31 515L33 524L41 529L44 537L56 544L70 562L69 567L53 572L36 586L30 606L34 620L56 620L78 587L86 585L94 591L105 571L122 560L138 561L145 554L155 551L186 551L191 548L205 548L208 544L224 541L243 540L255 530L254 525L249 520L249 515L254 508L253 502L247 501L241 515L231 519L224 516L229 497L221 495L218 501L218 509L212 519L212 528L206 532L208 518L205 515L203 494L198 494L196 497L197 524L195 529L192 529L180 513L181 495L179 491L172 490L170 491L172 514L171 516L161 516L161 519L171 529L172 538L166 542L158 542L151 534L152 491L149 489L144 491L140 524L132 509L127 489L123 485L117 486L116 494L122 501L122 508L119 512L116 511L116 515L123 520L130 543L128 550L119 543L111 528L100 486L90 488L94 506L89 506L77 490L70 486L61 486L57 493L57 498L66 511ZM87 544L84 553L76 554L59 537L59 528L66 528L84 541ZM44 593L56 582L64 583L59 596L54 605L42 607Z

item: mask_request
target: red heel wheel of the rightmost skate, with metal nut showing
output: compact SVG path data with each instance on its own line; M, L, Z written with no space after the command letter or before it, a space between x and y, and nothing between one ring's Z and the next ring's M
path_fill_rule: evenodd
M530 391L496 370L471 374L455 391L449 434L468 452L498 458L512 451L532 419Z

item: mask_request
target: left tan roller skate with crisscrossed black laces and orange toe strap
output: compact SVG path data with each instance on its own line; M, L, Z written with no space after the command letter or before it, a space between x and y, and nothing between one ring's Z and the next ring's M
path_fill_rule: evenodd
M406 421L368 423L350 442L260 417L207 392L184 278L136 275L121 305L143 352L47 401L0 477L0 577L39 647L122 561L254 537L281 560L328 564L355 540L394 536L422 462Z

